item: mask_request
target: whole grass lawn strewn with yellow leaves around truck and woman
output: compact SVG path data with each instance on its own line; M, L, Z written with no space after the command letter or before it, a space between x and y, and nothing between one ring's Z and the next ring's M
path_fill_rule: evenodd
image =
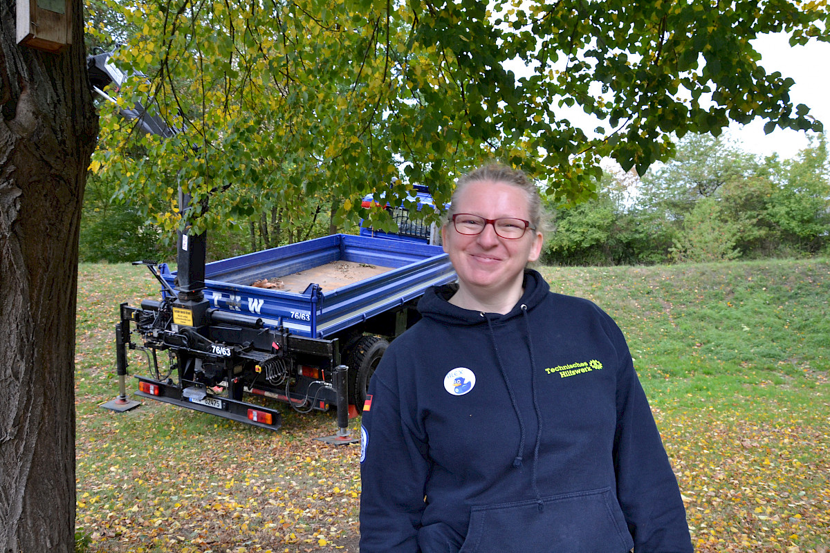
M626 333L696 551L827 553L828 260L541 272ZM78 287L78 551L358 551L359 448L314 440L334 434L333 413L286 406L275 433L149 400L101 409L118 390L118 304L158 284L82 264ZM129 353L131 374L143 355Z

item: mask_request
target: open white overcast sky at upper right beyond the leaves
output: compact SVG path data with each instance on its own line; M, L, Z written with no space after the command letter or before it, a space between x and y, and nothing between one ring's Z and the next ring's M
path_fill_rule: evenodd
M776 33L756 39L753 45L761 54L759 65L768 73L780 71L795 80L790 94L793 104L807 104L810 114L830 130L830 44L813 42L793 47L786 34ZM779 153L782 158L792 158L808 144L803 131L776 129L765 135L764 122L757 119L743 126L733 124L729 136L747 152L764 156Z

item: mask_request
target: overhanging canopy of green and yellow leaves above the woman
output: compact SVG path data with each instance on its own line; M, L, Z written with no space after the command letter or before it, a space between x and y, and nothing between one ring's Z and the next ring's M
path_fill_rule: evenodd
M110 109L92 168L120 179L121 195L166 198L156 222L168 228L178 187L194 198L194 230L311 198L335 224L383 228L393 223L364 194L398 202L418 182L441 206L452 179L489 158L579 201L601 158L642 174L673 135L755 116L768 130L822 129L749 41L830 40L826 0L95 1L137 30L116 62L148 78L120 103L141 99L179 133L130 132ZM517 78L507 62L528 69ZM598 127L565 119L565 106Z

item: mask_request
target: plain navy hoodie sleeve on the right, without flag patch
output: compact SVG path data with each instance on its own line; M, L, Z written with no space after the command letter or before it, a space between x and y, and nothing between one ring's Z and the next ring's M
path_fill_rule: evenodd
M620 372L614 468L617 493L635 553L691 553L680 488L663 448L657 424L634 371L623 333L613 324Z

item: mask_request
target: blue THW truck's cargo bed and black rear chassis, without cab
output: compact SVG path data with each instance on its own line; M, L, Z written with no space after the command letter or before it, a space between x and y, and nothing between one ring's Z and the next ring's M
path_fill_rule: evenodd
M150 374L137 376L136 395L267 429L280 427L281 411L253 396L359 411L388 341L417 321L417 299L456 278L440 246L330 235L202 263L194 285L187 244L180 233L182 274L148 264L160 299L121 304L119 375L127 350L143 350Z

